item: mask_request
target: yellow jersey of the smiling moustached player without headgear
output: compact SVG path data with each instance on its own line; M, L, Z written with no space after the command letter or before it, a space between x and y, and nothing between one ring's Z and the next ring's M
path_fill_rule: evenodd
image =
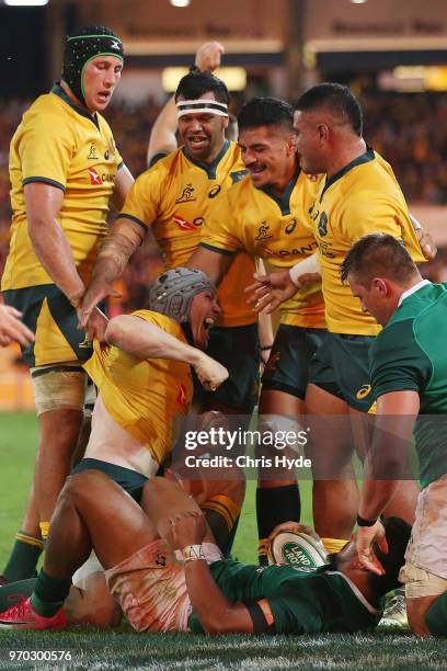
M210 213L202 244L225 253L245 250L266 259L275 269L291 268L317 251L307 212L321 179L303 172L290 181L283 198L256 189L250 177L234 184ZM280 321L324 328L321 284L306 284L280 307Z

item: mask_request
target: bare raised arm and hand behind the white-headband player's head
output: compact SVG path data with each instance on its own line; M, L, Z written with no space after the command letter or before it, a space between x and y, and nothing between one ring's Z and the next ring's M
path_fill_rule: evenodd
M196 53L195 67L197 70L209 70L214 72L220 66L220 58L225 49L218 42L205 42ZM147 162L152 164L152 159L157 155L167 155L177 148L177 109L174 96L170 98L152 126L150 133Z

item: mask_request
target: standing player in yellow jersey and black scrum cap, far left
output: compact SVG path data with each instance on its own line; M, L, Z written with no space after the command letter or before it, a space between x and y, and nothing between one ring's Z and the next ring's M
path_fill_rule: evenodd
M23 348L39 422L34 504L4 571L34 575L42 541L70 468L83 419L87 375L77 311L106 230L133 182L100 112L123 68L123 44L106 27L67 38L60 82L25 112L10 151L12 227L1 288L35 342ZM102 319L96 312L95 319Z

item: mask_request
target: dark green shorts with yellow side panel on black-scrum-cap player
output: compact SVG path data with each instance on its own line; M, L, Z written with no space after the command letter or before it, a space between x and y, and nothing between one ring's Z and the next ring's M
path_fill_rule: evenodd
M30 367L87 361L91 348L80 348L85 331L78 329L78 315L67 296L54 284L3 292L4 303L23 315L35 341L22 349Z

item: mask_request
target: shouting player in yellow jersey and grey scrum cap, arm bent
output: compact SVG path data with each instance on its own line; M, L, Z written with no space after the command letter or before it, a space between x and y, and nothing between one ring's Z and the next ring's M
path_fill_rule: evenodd
M115 317L106 327L106 343L94 341L84 366L99 394L85 456L72 471L102 470L138 502L146 480L171 456L179 420L193 397L191 371L210 393L228 377L225 366L202 351L220 314L205 273L167 271L151 286L148 308ZM225 549L242 505L244 481L200 484L198 468L193 476L195 481L185 487L207 510Z

